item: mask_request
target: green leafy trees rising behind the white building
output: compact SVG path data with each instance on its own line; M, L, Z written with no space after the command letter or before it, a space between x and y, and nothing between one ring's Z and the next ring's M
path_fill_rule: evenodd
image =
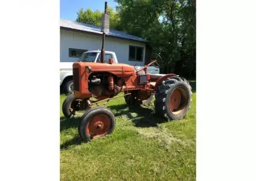
M161 55L161 73L196 76L195 0L116 0L116 12L108 7L110 28L149 41ZM81 9L77 21L101 26L103 12Z

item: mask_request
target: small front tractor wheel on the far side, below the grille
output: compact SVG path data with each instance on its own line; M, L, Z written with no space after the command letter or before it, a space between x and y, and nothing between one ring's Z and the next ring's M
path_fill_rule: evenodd
M66 118L70 118L76 111L85 111L90 109L90 106L85 100L78 100L74 94L66 97L62 104L62 113Z

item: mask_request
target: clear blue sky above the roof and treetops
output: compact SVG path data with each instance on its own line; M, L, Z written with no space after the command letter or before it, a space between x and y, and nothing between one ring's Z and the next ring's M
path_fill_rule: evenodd
M117 3L114 0L60 0L60 18L75 21L81 8L104 11L105 1L115 9Z

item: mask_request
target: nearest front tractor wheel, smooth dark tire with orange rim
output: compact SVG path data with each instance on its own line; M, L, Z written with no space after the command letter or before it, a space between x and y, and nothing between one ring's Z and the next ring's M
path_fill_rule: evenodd
M90 141L111 134L114 128L114 114L109 109L98 106L84 113L78 133L84 141Z

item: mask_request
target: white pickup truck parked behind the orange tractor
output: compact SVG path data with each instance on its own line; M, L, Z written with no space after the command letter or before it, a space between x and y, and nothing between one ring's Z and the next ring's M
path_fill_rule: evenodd
M82 62L100 62L101 51L87 51L84 52L78 61ZM118 63L115 52L105 51L105 62L108 63L108 59L113 59L114 63ZM60 86L63 86L65 93L73 93L73 63L74 62L60 62ZM140 69L143 66L134 66L135 69ZM149 66L147 72L151 75L159 74L159 68L155 66Z

